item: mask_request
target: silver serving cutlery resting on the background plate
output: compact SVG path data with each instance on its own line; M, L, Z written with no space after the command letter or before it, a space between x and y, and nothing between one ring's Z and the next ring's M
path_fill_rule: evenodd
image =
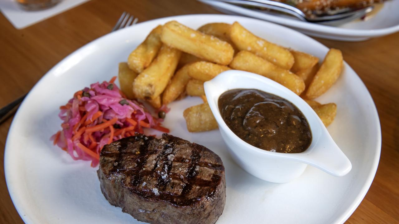
M338 26L346 22L350 22L357 18L365 16L365 14L373 10L373 6L365 8L343 8L336 10L334 14L307 16L304 12L282 2L275 2L272 0L209 0L215 2L225 2L238 6L252 6L256 8L267 8L284 14L289 14L304 22L319 23L329 26ZM262 10L264 12L264 10Z

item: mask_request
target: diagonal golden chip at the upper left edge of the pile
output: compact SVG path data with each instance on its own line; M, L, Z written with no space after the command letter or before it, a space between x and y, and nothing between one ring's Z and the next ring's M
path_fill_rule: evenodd
M129 68L136 73L141 73L155 58L160 47L162 26L153 29L147 38L132 53L130 53L127 63Z

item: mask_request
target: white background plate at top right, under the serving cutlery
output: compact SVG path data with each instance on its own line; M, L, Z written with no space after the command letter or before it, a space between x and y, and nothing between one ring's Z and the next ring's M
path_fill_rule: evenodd
M344 25L333 27L321 24L313 24L299 20L293 20L282 16L257 12L247 8L234 6L225 2L217 2L215 0L199 0L205 4L209 4L217 8L221 12L227 14L237 14L249 16L274 22L283 26L296 29L307 35L314 37L322 37L325 39L334 39L342 41L361 41L372 37L379 37L395 33L399 31L399 1L387 0L384 2L382 9L371 19L366 21L352 21Z

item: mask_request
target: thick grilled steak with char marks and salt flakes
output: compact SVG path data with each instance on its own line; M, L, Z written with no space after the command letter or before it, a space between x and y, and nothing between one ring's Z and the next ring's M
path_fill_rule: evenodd
M142 222L213 224L225 205L220 157L168 134L105 145L97 174L105 198Z

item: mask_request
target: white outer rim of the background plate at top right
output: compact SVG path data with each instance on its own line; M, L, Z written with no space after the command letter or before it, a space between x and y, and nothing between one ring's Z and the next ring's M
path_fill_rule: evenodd
M245 9L239 6L234 6L230 5L225 2L216 2L213 0L198 0L199 2L202 2L204 4L207 4L209 6L227 6L228 8L234 8L235 10L242 10L243 12L251 12L254 13L255 15L260 14L260 12L255 12L249 9ZM224 8L223 7L223 8ZM282 26L288 26L290 28L296 28L296 29L303 29L306 31L311 31L311 32L322 32L323 34L334 34L334 35L339 35L342 37L379 37L383 35L389 35L391 33L395 33L399 31L399 24L396 26L390 26L387 28L380 28L380 29L348 29L348 28L339 28L339 27L333 27L333 26L324 26L320 24L312 24L309 22L303 22L299 20L290 20L288 18L281 18L278 16L273 16L269 14L262 14L262 17L265 19L261 19L260 16L256 17L251 17L251 18L256 18L260 20L266 20L267 22L273 22L277 23ZM312 29L309 29L312 28Z

